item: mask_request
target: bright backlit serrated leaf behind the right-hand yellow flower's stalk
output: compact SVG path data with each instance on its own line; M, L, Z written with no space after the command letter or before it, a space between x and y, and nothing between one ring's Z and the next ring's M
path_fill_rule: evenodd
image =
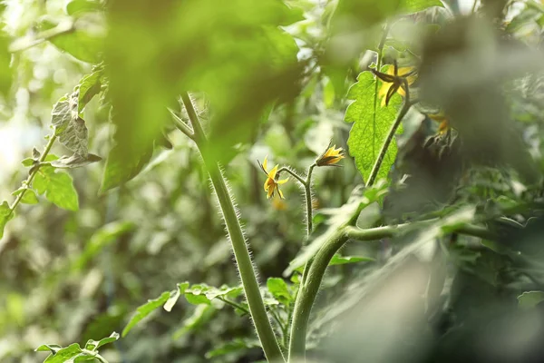
M378 82L378 87L382 85L382 82L376 80L372 73L363 72L359 74L357 83L351 86L347 94L348 99L355 100L345 111L345 122L354 123L351 132L349 132L347 145L349 146L350 155L355 158L355 164L363 175L364 181L368 179L372 171L374 162L402 102L401 96L398 94L393 95L387 107L381 107L380 100L377 100L374 113L376 82ZM401 132L402 127L399 127L397 133ZM387 177L396 152L396 142L391 142L378 172L378 179Z

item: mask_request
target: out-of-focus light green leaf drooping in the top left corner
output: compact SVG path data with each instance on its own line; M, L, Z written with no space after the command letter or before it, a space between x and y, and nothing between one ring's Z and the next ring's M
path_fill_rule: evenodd
M44 19L40 23L41 30L59 29L64 32L50 37L48 40L60 51L72 55L80 61L98 64L102 60L103 37L102 34L87 32L85 27L95 27L100 25L86 25L85 19L79 19L73 28L67 30L65 25Z

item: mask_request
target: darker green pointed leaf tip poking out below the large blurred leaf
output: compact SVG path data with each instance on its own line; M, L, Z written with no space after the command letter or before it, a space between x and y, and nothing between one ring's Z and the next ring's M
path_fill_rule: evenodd
M101 191L109 191L121 184L130 181L151 160L153 147L139 150L139 154L133 154L131 158L123 157L121 146L116 145L108 155L106 167L102 176Z

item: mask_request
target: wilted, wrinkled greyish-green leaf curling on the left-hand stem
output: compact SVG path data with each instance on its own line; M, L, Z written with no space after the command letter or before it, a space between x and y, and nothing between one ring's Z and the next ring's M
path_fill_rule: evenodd
M79 117L77 103L78 94L72 93L63 96L53 105L51 112L51 123L54 127L54 134L71 151L87 157L88 132L87 126Z

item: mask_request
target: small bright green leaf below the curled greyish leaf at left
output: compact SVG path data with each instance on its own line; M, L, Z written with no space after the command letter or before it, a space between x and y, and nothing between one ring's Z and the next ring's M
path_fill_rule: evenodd
M53 166L43 165L34 177L33 187L48 201L68 211L77 211L79 201L73 187L72 176L66 172L55 171Z

